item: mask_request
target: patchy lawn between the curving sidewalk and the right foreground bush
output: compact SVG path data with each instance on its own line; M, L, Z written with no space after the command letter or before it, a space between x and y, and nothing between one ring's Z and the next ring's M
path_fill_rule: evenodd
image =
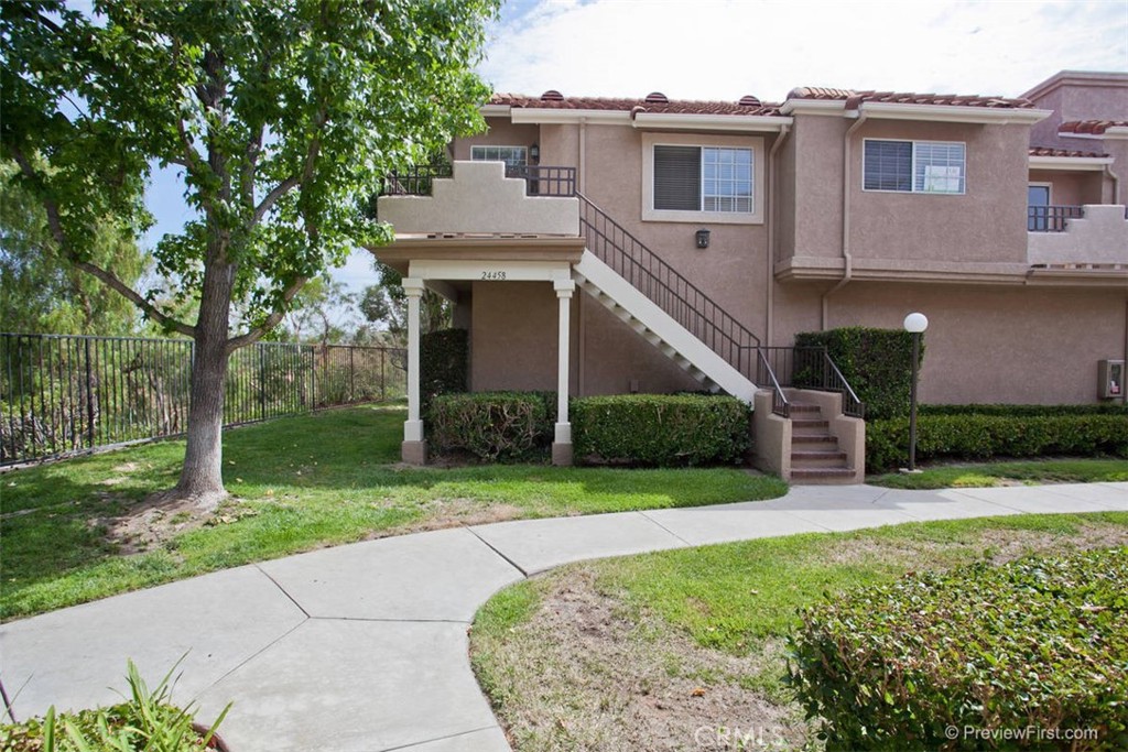
M910 523L570 565L487 602L472 631L472 662L519 750L660 746L666 737L640 737L631 728L651 698L669 717L688 707L680 732L664 732L684 744L694 728L749 723L731 708L695 706L704 702L697 695L739 698L759 708L752 720L779 726L787 746L818 749L782 681L786 638L800 623L800 608L911 570L1125 545L1128 513L1109 512ZM611 626L600 629L616 645L593 642L591 623L598 620L570 617L561 623L554 616L582 602L589 603L585 613L614 614ZM627 649L629 665L607 657ZM583 664L580 679L567 674L576 663ZM686 699L687 685L679 683L687 671L703 688L694 699ZM638 676L647 682L642 691L619 689L637 685ZM561 697L575 698L567 713ZM583 708L601 709L585 717ZM596 726L602 735L584 736L584 728ZM628 732L635 734L629 740Z

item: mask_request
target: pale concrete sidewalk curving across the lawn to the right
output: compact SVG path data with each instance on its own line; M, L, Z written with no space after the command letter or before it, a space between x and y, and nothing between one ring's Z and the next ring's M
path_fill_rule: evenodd
M529 520L324 549L0 627L19 718L114 702L126 658L237 752L508 750L467 660L492 593L607 556L797 532L1021 513L1128 511L1128 483L905 492L803 486L783 498ZM113 688L113 689L109 689Z

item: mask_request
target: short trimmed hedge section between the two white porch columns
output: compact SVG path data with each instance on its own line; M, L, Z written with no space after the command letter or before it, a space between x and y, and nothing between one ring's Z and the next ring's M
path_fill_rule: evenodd
M439 395L429 414L431 444L483 460L541 459L553 440L555 392L482 391Z

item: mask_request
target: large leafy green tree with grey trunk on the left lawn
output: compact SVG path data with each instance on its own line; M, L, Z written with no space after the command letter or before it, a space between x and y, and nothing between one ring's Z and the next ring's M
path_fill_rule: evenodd
M388 170L482 127L473 65L497 0L5 0L0 143L76 267L195 340L187 449L171 495L224 494L230 354L279 324L301 287L358 244ZM50 165L50 169L42 168ZM114 218L151 223L152 165L197 212L153 256L197 301L185 321L92 255ZM232 303L249 321L232 330Z

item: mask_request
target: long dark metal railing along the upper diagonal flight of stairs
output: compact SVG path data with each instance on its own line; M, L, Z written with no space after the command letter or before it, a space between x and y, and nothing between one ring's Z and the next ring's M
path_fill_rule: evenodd
M759 347L759 337L590 198L582 193L575 195L580 198L580 229L588 249L755 382L755 362L748 351Z

